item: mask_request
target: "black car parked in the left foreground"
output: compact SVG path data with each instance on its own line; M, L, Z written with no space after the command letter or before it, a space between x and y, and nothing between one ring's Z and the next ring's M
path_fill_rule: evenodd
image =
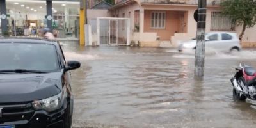
M0 38L0 128L72 127L70 70L56 41Z

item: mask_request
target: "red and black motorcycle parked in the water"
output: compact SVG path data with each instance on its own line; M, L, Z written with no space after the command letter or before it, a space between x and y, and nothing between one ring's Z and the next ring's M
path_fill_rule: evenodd
M240 63L239 67L236 68L235 76L231 78L234 100L256 100L256 70L244 63Z

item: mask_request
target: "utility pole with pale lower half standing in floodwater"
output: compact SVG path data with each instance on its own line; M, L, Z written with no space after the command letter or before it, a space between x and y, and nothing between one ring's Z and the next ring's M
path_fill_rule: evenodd
M198 0L195 76L204 76L206 0Z

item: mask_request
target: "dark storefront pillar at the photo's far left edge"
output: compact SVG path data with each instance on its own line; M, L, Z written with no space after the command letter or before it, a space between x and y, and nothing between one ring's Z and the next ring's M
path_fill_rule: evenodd
M0 1L0 15L1 15L1 28L2 28L2 35L8 32L8 22L7 22L7 15L6 15L6 0Z

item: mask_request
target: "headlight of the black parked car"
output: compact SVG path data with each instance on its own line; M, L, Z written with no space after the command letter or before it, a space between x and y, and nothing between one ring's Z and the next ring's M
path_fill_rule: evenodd
M47 112L51 112L51 111L55 111L56 109L59 109L62 103L63 103L62 92L59 93L58 95L54 95L53 97L32 102L35 110L45 110Z

